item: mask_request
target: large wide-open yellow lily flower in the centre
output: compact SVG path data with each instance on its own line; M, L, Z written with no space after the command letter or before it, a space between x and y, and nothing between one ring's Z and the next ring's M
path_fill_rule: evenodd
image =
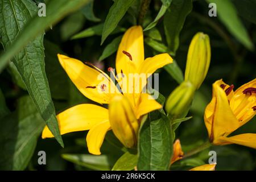
M150 76L156 69L172 63L170 55L162 53L144 60L142 27L129 28L119 44L116 58L118 74L115 78L122 93L106 73L92 64L84 64L64 55L58 55L58 58L69 78L85 97L99 104L109 104L109 109L93 104L80 104L58 114L61 135L89 130L86 136L88 150L91 154L100 155L106 132L112 129L126 147L133 147L137 143L141 116L160 109L162 105L149 94L141 92L145 83L141 86L134 85L133 80L125 81L125 78L130 73L144 73L147 77ZM113 72L112 69L109 71ZM138 86L139 92L134 92ZM127 93L127 90L131 92ZM42 138L50 137L53 135L48 127L45 127Z

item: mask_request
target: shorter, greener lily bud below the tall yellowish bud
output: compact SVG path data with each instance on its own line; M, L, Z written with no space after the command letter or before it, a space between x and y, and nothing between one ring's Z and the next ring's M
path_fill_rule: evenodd
M184 81L172 91L166 101L166 111L172 119L184 117L191 105L195 90L191 82Z

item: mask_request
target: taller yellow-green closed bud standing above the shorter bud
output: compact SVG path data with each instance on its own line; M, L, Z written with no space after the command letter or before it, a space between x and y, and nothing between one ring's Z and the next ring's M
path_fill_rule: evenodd
M199 89L210 65L210 39L207 34L198 32L192 39L187 56L185 81L189 80Z

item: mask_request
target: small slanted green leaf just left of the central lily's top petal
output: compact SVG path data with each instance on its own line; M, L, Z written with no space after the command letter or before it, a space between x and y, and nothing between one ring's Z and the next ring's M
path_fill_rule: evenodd
M122 36L118 36L111 43L109 43L108 46L106 46L104 51L102 52L102 55L100 56L99 61L106 59L106 57L109 57L115 51L117 51L119 43L121 42L121 39L122 39Z

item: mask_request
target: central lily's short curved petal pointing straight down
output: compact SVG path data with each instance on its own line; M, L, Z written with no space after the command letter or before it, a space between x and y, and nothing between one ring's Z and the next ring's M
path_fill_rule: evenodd
M100 113L98 113L100 114ZM90 154L100 155L100 148L104 141L107 131L110 130L109 121L104 121L94 125L86 136L86 143Z

